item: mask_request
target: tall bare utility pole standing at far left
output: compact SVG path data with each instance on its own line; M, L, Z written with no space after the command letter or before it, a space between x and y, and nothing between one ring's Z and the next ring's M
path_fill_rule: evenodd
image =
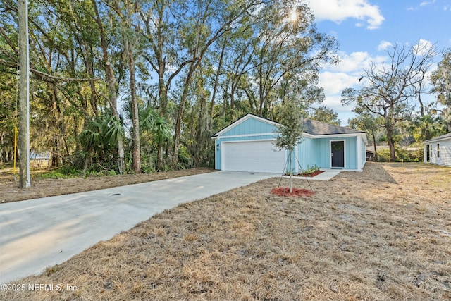
M28 0L19 0L19 150L20 188L30 187L30 56Z

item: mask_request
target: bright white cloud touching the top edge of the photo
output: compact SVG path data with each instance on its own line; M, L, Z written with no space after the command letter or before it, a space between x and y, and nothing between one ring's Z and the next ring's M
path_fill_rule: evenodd
M376 29L383 23L383 15L377 5L369 4L369 0L309 0L316 20L332 20L340 23L348 18L364 20L369 29ZM362 23L357 23L361 26Z

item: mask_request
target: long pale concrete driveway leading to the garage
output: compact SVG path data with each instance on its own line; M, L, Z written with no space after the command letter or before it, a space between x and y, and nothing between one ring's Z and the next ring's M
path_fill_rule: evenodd
M0 204L0 283L40 274L180 203L275 176L217 171Z

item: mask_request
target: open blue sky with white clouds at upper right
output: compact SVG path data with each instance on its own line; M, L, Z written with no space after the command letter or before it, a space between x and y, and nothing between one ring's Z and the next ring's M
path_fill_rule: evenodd
M338 66L323 66L319 85L328 108L342 125L354 114L340 104L345 87L359 87L362 70L371 61L388 61L390 45L436 44L451 48L451 0L306 0L314 11L319 32L340 43ZM435 65L442 58L435 57ZM431 96L432 97L432 96Z

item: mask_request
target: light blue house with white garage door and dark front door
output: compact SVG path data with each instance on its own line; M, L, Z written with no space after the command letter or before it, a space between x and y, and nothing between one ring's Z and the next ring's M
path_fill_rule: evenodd
M278 123L247 114L212 136L215 140L215 168L222 171L283 173L288 151L274 145ZM293 161L302 169L318 166L362 171L365 161L366 133L305 120L302 142ZM295 172L299 172L299 164Z

